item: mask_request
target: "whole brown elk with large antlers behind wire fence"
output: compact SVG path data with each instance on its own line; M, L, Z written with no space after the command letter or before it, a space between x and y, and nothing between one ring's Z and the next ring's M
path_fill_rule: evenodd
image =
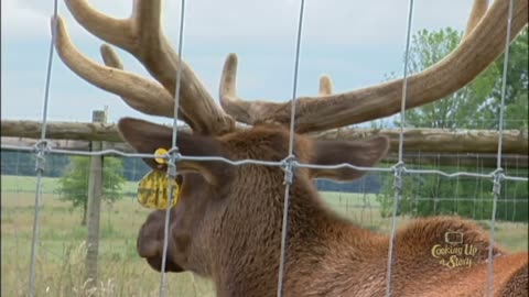
M86 0L65 0L77 22L99 38L130 54L156 80L125 72L109 45L101 46L99 65L72 44L64 21L52 20L62 61L90 84L116 94L130 107L173 118L175 79L181 66L177 117L192 133L179 133L184 156L219 156L280 162L288 156L291 103L246 101L236 91L237 57L226 59L220 107L192 68L179 59L161 26L161 1L134 1L132 16L112 19ZM435 101L469 82L505 46L509 1L476 0L465 37L447 57L408 78L407 108ZM511 37L527 24L528 1L515 0ZM384 136L358 141L323 141L310 132L390 116L400 110L402 79L343 94L331 94L324 77L317 97L296 100L294 155L304 164L353 164L369 167L388 151ZM237 125L236 122L249 127ZM122 138L140 153L170 147L172 130L139 119L118 123ZM153 160L144 160L154 169ZM219 161L182 160L182 188L170 219L166 271L191 271L209 277L217 296L274 296L281 245L284 173L262 165L228 166ZM296 168L290 188L289 235L285 248L284 296L384 296L389 238L364 230L326 208L314 178L350 180L364 174L339 169ZM164 211L151 212L138 235L138 253L160 271ZM471 265L447 267L446 232L462 234L458 244L473 252ZM483 296L487 254L493 249L494 296L527 296L528 253L509 254L488 246L489 238L472 221L456 217L417 219L395 238L392 296ZM436 248L445 249L436 250ZM444 246L444 248L443 248ZM449 250L446 250L449 249ZM466 251L465 251L466 253Z

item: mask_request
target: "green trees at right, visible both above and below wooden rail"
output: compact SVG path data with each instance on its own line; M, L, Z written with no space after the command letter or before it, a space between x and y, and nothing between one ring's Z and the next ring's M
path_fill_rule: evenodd
M439 31L420 30L410 46L409 70L418 73L435 64L451 53L463 36L451 28ZM505 96L506 129L528 128L528 30L515 38L509 48ZM498 57L471 84L456 92L430 105L406 112L406 125L439 129L497 129L501 99L504 56ZM396 121L396 124L400 124ZM478 165L478 164L476 164ZM476 167L423 166L424 169L444 172L475 172ZM482 168L488 170L486 168ZM527 174L527 172L525 172ZM518 174L517 174L518 175ZM382 216L391 215L393 178L384 180L378 195ZM403 191L399 201L399 215L431 216L457 213L475 219L489 218L492 213L493 185L490 180L472 178L440 178L436 175L410 175L403 177ZM516 204L498 204L498 219L525 221L527 211L527 183L503 187L503 197L520 199ZM444 200L443 200L444 198ZM446 199L450 198L450 199ZM514 211L509 210L512 209ZM509 213L515 213L514 216Z

